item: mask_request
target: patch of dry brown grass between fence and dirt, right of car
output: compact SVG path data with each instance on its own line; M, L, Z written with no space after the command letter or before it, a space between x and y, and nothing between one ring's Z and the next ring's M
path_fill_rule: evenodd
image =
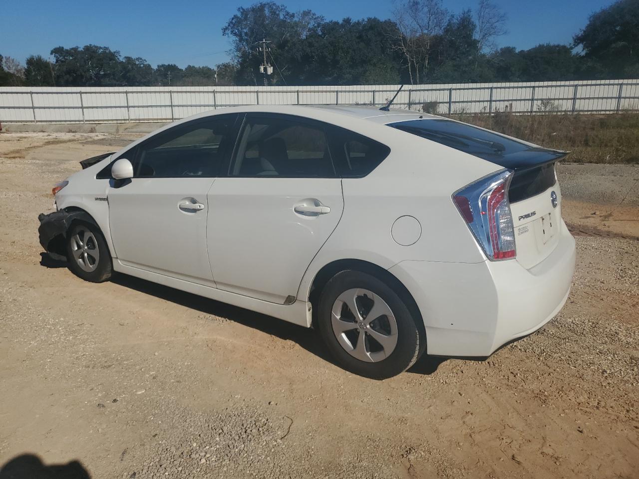
M571 151L567 162L639 163L639 114L461 116L456 119L547 148Z

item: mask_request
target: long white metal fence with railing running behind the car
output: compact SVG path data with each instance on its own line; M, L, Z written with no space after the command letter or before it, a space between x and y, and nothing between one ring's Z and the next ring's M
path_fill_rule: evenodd
M2 87L0 122L168 121L236 105L385 105L399 85ZM639 110L639 80L406 85L395 107L438 114Z

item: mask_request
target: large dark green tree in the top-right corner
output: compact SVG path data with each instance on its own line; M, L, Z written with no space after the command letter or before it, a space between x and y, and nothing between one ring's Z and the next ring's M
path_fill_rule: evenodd
M619 0L590 15L573 38L585 59L601 63L615 78L636 75L639 66L639 0Z

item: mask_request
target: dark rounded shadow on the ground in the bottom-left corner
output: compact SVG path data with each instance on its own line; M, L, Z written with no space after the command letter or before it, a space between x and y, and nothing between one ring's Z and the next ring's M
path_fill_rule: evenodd
M91 479L77 460L47 466L34 454L22 454L0 468L0 479Z

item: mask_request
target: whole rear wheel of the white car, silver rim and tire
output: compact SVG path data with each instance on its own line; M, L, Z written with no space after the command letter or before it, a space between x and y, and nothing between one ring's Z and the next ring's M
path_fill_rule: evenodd
M424 349L425 338L404 301L385 282L361 271L342 271L328 281L318 323L337 362L360 376L396 376Z

